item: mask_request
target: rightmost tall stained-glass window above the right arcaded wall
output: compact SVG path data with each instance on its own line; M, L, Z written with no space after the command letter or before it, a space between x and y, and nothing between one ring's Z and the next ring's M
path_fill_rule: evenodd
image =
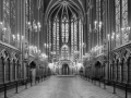
M128 0L115 0L116 5L116 45L129 41Z

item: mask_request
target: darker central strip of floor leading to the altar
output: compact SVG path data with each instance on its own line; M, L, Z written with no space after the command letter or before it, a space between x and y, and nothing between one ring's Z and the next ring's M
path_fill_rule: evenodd
M58 77L58 86L49 98L81 98L73 85L75 77Z

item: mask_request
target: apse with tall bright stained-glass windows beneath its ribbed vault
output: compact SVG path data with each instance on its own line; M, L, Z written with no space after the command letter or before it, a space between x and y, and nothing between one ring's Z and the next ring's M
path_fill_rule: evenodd
M47 20L47 41L51 45L48 49L49 59L55 62L79 61L82 58L82 11L70 0L59 1L49 11Z

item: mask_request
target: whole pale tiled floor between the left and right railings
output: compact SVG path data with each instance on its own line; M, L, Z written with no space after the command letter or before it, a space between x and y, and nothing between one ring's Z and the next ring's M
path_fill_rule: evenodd
M9 98L122 98L80 76L57 77L39 83ZM129 97L131 98L131 96Z

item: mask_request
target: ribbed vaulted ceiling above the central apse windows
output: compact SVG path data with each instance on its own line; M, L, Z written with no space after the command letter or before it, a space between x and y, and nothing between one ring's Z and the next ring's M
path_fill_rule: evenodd
M86 0L45 0L44 7L46 23L56 15L62 17L64 14L69 17L76 15L83 20L86 12Z

